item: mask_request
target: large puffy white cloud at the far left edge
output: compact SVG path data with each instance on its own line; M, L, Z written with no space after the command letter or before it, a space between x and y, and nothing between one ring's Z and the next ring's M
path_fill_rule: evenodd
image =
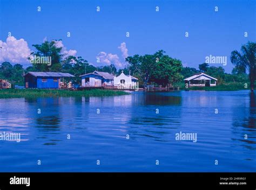
M24 39L10 36L6 42L0 40L0 62L29 63L30 49Z

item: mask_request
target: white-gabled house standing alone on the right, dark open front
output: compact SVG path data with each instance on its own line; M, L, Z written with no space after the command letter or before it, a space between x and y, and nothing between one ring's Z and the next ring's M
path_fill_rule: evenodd
M187 87L190 86L216 86L217 79L207 74L201 72L199 74L195 74L192 77L188 77L184 79L185 85L188 84Z

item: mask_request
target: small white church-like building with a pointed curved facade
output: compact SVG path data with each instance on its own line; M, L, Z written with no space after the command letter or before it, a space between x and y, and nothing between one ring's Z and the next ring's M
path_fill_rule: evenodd
M131 75L125 75L124 72L114 77L114 86L122 87L122 89L134 89L134 87L138 87L138 79L131 76Z

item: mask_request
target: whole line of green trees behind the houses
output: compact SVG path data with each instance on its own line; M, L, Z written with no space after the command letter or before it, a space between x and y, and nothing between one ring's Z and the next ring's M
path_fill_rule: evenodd
M21 64L12 65L3 62L0 65L0 78L8 79L11 83L23 85L23 74L30 71L40 72L68 72L76 76L73 83L80 84L80 75L91 73L95 70L109 72L112 74L131 74L139 79L139 84L146 87L149 84L156 86L179 86L183 79L199 72L204 72L218 79L218 84L230 82L250 82L251 90L254 89L256 80L256 43L248 42L241 46L241 51L232 51L230 60L234 65L232 73L226 73L224 68L210 66L207 63L199 64L198 69L193 67L183 67L181 61L171 58L165 54L164 50L159 50L153 55L134 55L126 58L127 66L119 69L111 64L106 66L93 66L87 60L78 56L67 56L62 54L62 48L57 48L56 40L45 41L42 44L33 45L36 51L31 56L51 57L51 64L32 63L24 68ZM31 58L28 58L29 60ZM247 74L248 73L248 74Z

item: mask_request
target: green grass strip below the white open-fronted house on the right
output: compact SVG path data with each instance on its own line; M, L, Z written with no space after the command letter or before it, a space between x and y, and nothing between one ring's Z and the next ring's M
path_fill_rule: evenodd
M185 86L183 87L185 89ZM205 91L238 91L238 90L250 90L250 84L247 83L247 89L245 88L245 83L226 83L226 84L217 84L217 86L211 87L198 87L193 86L188 90L205 90Z

